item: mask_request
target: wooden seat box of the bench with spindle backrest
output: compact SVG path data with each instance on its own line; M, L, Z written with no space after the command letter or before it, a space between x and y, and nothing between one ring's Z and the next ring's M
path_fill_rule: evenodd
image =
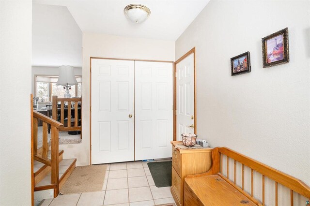
M186 179L184 195L185 205L188 206L255 206L218 175Z

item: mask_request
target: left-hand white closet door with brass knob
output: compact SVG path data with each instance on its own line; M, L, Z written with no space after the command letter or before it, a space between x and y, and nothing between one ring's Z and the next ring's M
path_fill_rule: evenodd
M134 61L92 59L92 164L134 160Z

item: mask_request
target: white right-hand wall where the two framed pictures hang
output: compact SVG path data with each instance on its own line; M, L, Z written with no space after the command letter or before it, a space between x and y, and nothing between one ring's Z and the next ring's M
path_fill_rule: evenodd
M196 47L197 132L310 185L310 1L211 0L176 41ZM265 68L261 39L288 27L290 62ZM250 52L252 71L231 76ZM304 203L302 203L304 204Z

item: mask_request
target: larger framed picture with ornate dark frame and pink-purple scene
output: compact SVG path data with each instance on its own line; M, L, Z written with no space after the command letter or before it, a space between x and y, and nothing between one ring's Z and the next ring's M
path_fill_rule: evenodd
M263 68L290 61L288 34L289 31L285 28L262 38Z

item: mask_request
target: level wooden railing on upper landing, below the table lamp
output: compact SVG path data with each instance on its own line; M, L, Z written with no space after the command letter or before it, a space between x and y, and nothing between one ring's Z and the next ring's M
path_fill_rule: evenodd
M54 120L57 120L58 115L58 103L61 103L60 108L60 122L63 124L63 127L60 128L59 131L81 131L81 113L78 114L78 103L82 102L82 98L58 98L57 96L53 96L53 105L52 105L52 117ZM74 102L74 126L71 125L71 103ZM64 124L64 105L68 103L67 109L67 125ZM81 107L80 107L81 109ZM80 119L80 121L78 121Z

